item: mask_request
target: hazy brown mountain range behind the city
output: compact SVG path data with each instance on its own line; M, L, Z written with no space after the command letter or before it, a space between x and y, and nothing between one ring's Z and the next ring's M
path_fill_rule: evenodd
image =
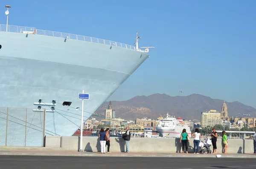
M224 100L212 99L199 94L189 96L169 96L166 94L154 94L149 96L136 96L126 101L111 101L112 109L116 110L116 117L125 120L135 120L136 118L157 119L162 115L174 115L187 120L200 120L201 112L210 109L221 111ZM225 102L229 117L256 117L256 109L246 106L238 101ZM95 114L104 116L105 109L108 108L109 102L105 102Z

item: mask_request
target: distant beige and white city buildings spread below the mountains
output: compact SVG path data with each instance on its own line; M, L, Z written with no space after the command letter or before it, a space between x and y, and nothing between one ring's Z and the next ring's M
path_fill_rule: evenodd
M246 113L246 112L245 112ZM255 127L256 118L250 117L248 114L247 117L229 117L227 111L227 104L224 103L221 105L221 111L209 110L207 112L201 112L201 121L195 120L182 120L182 123L189 125L191 128L194 127L213 127L215 125L222 125L224 129L241 129L243 127ZM116 118L116 111L113 109L111 101L109 102L108 109L105 110L105 119L101 120L99 123L96 118L91 118L85 122L86 127L98 126L99 124L110 125L108 126L111 130L115 132L125 132L125 126L130 126L130 129L133 132L143 132L144 128L156 129L159 124L160 119L163 119L162 116L158 117L157 120L148 119L148 118L136 118L135 121L125 120L121 118ZM181 119L180 119L181 120Z

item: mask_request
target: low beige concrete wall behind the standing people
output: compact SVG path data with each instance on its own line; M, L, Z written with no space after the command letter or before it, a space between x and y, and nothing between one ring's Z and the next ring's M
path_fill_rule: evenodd
M64 151L79 150L79 136L46 136L46 147L61 147ZM125 152L125 141L121 137L111 137L111 152ZM98 137L83 137L83 150L86 152L100 152ZM181 152L182 144L179 138L133 138L131 137L130 152ZM190 139L189 152L193 153L193 139ZM228 140L228 153L253 153L253 140ZM217 141L218 153L223 151L221 139ZM212 150L212 146L210 146ZM106 147L107 150L107 147Z

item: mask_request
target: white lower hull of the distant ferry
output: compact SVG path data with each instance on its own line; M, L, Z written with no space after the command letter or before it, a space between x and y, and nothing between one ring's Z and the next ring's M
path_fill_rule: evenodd
M160 137L180 137L183 129L186 129L186 132L191 136L191 131L189 126L176 126L175 128L170 129L169 127L157 126L157 131L159 132Z

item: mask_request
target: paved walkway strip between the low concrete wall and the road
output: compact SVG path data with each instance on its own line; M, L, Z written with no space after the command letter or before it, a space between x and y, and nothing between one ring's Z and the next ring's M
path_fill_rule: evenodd
M64 151L0 151L0 155L33 155L33 156L91 156L91 157L186 157L186 158L216 158L213 154L181 154L181 153L123 153L112 152L100 154L99 152L64 152ZM256 154L223 154L221 158L256 158Z

